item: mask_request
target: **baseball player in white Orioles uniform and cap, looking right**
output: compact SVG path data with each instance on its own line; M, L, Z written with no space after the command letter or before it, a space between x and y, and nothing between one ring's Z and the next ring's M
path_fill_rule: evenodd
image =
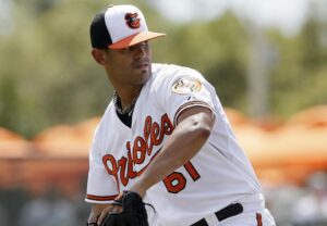
M150 226L275 225L215 88L195 70L152 63L148 40L162 36L133 5L92 22L92 55L116 92L90 147L87 224L122 213L131 191L154 206Z

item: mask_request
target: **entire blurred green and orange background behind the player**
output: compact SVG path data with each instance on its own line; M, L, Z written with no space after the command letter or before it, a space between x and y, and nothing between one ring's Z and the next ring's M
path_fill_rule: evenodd
M0 0L0 225L84 225L88 147L112 87L88 25L109 3ZM216 87L279 226L327 225L327 2L133 1L155 62ZM201 9L201 10L198 10Z

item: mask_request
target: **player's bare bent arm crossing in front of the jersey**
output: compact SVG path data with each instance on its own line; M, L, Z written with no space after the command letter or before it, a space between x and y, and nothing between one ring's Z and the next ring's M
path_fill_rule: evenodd
M214 124L215 114L209 108L194 105L183 110L177 118L177 127L161 151L131 190L144 197L148 188L185 164L206 142Z

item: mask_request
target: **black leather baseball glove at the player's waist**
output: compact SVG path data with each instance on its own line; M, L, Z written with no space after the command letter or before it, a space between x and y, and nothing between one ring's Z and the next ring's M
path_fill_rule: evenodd
M138 193L124 191L119 200L114 200L113 204L122 206L122 212L109 213L101 226L148 226L146 203Z

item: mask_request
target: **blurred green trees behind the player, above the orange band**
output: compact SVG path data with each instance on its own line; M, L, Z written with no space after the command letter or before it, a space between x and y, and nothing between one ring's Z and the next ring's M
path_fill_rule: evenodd
M88 27L107 3L11 2L10 24L0 27L0 126L33 138L51 125L101 115L113 90L90 56ZM231 12L172 24L147 1L133 4L152 30L168 34L150 42L154 62L198 70L223 105L252 117L283 118L327 102L327 20L315 16L314 7L302 30L286 37Z

